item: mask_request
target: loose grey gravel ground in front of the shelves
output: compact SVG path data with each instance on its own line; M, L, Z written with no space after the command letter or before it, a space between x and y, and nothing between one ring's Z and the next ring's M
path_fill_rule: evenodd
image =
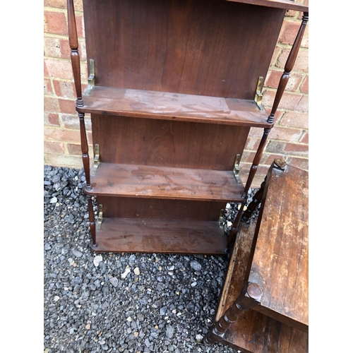
M94 253L84 184L44 166L44 352L237 352L202 342L227 258Z

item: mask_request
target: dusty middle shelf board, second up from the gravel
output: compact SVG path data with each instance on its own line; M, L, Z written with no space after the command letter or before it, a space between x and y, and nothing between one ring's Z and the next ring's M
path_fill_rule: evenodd
M91 176L95 196L241 202L243 184L232 171L100 163Z

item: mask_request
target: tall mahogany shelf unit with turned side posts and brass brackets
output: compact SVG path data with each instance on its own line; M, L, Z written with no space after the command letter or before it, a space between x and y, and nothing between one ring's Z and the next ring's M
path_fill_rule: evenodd
M308 8L289 0L83 0L85 92L73 0L67 8L92 249L226 253L241 212L229 235L220 213L227 202L244 207ZM268 113L263 79L287 9L304 17ZM244 186L239 162L251 127L263 128L263 138Z

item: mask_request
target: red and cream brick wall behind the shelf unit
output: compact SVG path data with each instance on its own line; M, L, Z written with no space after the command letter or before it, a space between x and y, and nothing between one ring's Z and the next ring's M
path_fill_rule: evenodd
M85 31L82 0L74 0L78 27L79 52L83 83L87 82ZM294 41L301 13L288 11L263 91L263 105L270 110L287 55ZM261 37L259 37L261 40ZM261 184L265 172L277 156L301 169L309 169L309 24L306 26L296 64L289 78L271 130L253 186ZM83 85L83 88L85 85ZM75 111L75 89L68 45L66 0L44 0L44 163L61 167L83 167L80 152L78 116ZM90 117L86 128L92 157ZM263 130L251 128L241 162L241 179L251 166Z

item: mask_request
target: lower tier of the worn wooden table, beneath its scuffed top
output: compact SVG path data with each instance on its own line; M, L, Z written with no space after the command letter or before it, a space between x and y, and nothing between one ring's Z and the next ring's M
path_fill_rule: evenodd
M220 295L215 321L219 321L241 294L246 267L253 244L256 222L241 223L239 234L229 260L227 277ZM205 342L221 342L244 353L304 353L309 352L308 333L292 328L255 310L239 311L237 320L223 337L215 335L213 328Z

